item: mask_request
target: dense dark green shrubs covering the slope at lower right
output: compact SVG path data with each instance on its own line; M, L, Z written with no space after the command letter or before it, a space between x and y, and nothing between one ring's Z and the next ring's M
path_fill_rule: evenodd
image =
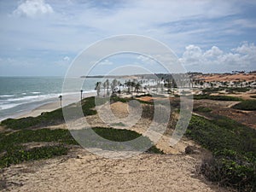
M201 166L211 181L242 191L256 189L256 131L232 119L193 116L186 135L212 151Z

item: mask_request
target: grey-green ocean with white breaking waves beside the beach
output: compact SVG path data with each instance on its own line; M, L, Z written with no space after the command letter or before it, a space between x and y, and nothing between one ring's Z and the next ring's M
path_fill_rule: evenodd
M0 77L0 120L15 118L28 113L49 102L59 101L62 94L62 77ZM96 81L101 79L71 79L73 84L83 84L84 93L94 92ZM69 94L80 90L73 90L72 83Z

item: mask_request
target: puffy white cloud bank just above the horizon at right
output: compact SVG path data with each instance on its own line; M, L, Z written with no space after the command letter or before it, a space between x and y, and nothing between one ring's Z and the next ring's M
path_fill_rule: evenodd
M247 44L224 52L217 46L202 50L193 44L186 47L180 58L183 65L192 71L202 72L227 72L230 68L234 70L253 70L256 63L256 46Z

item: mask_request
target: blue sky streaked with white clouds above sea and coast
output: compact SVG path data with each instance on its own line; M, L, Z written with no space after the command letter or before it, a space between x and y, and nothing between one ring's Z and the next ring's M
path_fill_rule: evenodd
M63 76L91 44L122 34L166 44L188 72L253 71L255 10L253 0L0 1L0 76ZM162 72L141 55L119 55L95 74L120 63Z

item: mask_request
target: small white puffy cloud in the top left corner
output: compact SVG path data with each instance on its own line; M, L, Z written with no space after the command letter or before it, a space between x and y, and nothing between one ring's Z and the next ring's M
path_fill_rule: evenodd
M20 3L17 9L13 12L14 15L36 17L38 15L46 15L53 13L52 7L45 3L44 0L26 0Z

